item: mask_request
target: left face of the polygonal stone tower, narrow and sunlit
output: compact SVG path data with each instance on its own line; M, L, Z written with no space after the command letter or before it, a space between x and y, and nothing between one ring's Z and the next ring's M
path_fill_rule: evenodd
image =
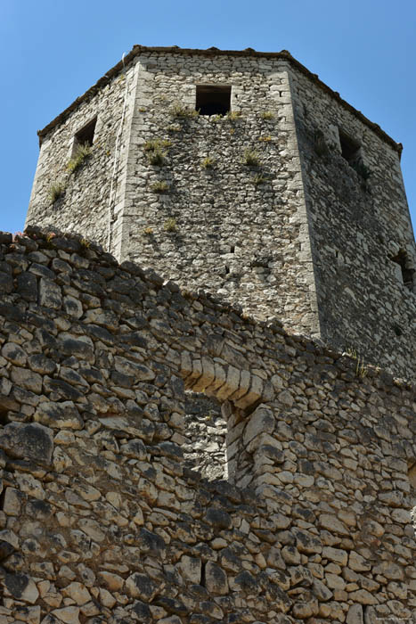
M61 114L59 124L41 133L26 225L52 230L59 226L109 245L113 230L117 231L124 196L135 83L132 64L105 85L90 89L82 102ZM94 118L92 152L78 168L69 171L75 135ZM53 185L59 184L62 193L52 201Z

